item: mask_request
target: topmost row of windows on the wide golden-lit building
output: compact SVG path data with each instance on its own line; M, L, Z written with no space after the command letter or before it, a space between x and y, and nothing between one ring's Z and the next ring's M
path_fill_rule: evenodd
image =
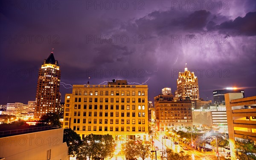
M88 94L89 92L89 94ZM84 91L84 95L93 95L93 91ZM109 91L105 91L105 95L108 96L108 92ZM122 95L124 96L125 95L125 91L120 91L121 94L119 94L119 91L116 91L116 96L119 96L119 95ZM75 91L75 95L81 95L82 94L82 91ZM98 91L94 91L94 95L103 95L103 91L99 91L99 94L98 94ZM110 91L110 95L113 96L114 95L114 91ZM130 96L130 91L126 91L126 95L127 96ZM135 96L135 91L132 91L132 95ZM144 96L145 95L145 91L138 91L138 96Z

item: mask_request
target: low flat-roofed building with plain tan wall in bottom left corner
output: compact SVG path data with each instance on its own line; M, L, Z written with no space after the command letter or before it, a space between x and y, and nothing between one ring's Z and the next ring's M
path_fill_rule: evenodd
M13 134L15 133L15 134ZM63 129L1 125L0 160L68 160Z

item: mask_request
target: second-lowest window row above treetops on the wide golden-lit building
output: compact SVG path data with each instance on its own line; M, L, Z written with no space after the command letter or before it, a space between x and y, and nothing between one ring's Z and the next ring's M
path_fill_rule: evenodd
M65 120L68 120L68 118L65 118ZM113 124L114 120L111 119L109 120L109 124ZM74 119L73 123L80 123L80 119ZM83 123L86 123L86 119L83 119ZM88 119L88 123L91 124L92 123L92 119ZM97 124L97 119L93 120L94 124ZM99 119L99 124L102 124L102 119ZM108 119L105 119L104 124L108 124ZM119 120L116 119L116 123L115 124L119 124ZM121 120L121 124L125 124L125 120ZM130 124L130 119L126 120L126 124ZM131 124L135 124L135 119L132 119L132 123ZM145 124L145 120L138 120L137 124Z

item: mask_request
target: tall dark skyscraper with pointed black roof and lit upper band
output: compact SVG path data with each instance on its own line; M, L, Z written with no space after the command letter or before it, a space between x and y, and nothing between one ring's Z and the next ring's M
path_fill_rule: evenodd
M51 52L38 73L35 119L39 119L48 112L58 113L61 103L60 79L61 70L58 60L55 60Z

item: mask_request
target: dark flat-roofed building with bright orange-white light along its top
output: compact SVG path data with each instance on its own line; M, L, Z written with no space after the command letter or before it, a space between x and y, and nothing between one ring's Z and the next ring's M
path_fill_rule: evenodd
M219 89L212 91L214 104L225 104L224 94L226 93L242 93L244 98L244 90L236 88Z

